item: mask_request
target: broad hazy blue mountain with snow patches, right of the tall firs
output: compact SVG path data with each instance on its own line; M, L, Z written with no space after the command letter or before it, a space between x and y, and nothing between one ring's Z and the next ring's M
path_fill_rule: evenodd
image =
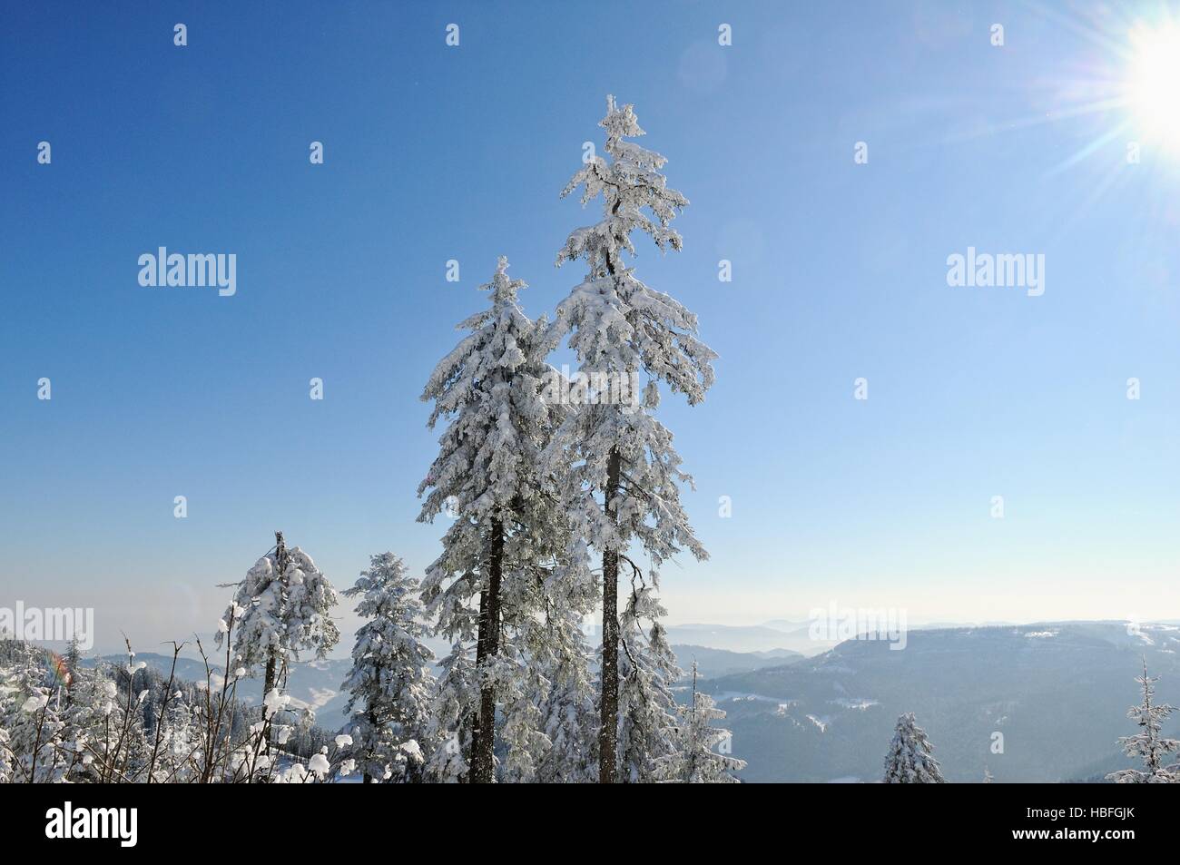
M999 782L1080 780L1132 765L1116 740L1135 732L1143 657L1160 701L1180 703L1178 649L1180 628L1162 623L914 630L903 650L846 641L709 687L747 781L878 780L903 712L950 781L978 781L985 766Z

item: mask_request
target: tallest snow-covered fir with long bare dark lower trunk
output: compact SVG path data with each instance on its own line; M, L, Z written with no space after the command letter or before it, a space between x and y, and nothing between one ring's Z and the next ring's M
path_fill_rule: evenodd
M551 333L556 345L569 335L579 375L591 382L585 405L572 412L550 447L556 464L575 466L565 485L569 509L584 538L602 557L603 650L599 697L599 780L618 771L618 603L621 562L638 542L651 558L653 572L680 549L706 558L680 504L681 471L671 433L651 417L660 400L658 382L683 393L690 405L704 399L713 384L716 355L696 339L696 316L670 295L641 282L625 264L635 255L631 234L641 231L661 251L680 249L669 227L688 204L660 173L664 157L625 138L643 135L632 106L607 98L604 151L566 185L563 195L583 188L582 203L602 197L603 218L572 231L557 263L582 258L588 273L559 304ZM640 393L640 376L647 384ZM578 563L578 550L571 561ZM589 563L583 563L590 572ZM654 578L654 577L653 577Z

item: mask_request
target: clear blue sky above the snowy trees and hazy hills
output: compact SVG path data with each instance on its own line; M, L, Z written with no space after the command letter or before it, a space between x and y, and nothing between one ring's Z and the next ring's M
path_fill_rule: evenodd
M670 621L1180 617L1180 157L1076 111L1161 7L642 8L7 9L0 605L148 648L208 630L275 529L341 588L424 568L421 386L498 255L532 315L581 280L553 260L597 210L558 192L614 93L691 201L637 273L721 355L661 408L713 556L666 569ZM236 254L237 294L140 287L160 245ZM1043 254L1043 296L949 287L968 247Z

